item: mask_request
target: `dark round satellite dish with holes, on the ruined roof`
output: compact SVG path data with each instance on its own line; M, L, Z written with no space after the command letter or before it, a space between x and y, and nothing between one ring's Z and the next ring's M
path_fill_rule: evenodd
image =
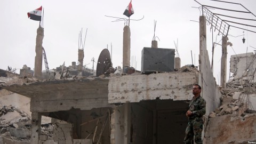
M103 49L97 62L96 76L103 75L111 65L110 53L108 49Z

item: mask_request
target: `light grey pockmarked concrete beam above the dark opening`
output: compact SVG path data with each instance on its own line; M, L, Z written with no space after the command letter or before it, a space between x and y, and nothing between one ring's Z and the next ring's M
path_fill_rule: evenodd
M108 102L125 103L141 100L190 100L193 84L198 83L198 73L158 73L126 75L109 80Z

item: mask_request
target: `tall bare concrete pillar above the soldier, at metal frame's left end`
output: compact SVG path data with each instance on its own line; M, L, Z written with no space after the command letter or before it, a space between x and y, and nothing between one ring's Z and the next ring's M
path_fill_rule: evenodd
M202 15L199 17L199 70L202 71L201 66L205 66L207 58L203 57L207 55L206 51L206 19Z

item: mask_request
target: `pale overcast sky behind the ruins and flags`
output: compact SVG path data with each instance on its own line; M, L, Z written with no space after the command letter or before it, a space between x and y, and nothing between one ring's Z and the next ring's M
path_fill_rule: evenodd
M84 47L84 65L92 68L91 59L94 57L98 61L100 52L107 48L110 50L110 43L113 45L113 66L122 66L123 49L123 27L124 22L111 22L115 19L105 17L127 18L123 15L129 4L129 0L109 0L109 1L20 1L1 0L0 1L0 69L7 69L7 66L21 69L23 65L34 68L36 29L38 21L30 20L27 12L40 7L44 8L44 39L43 47L46 51L49 68L53 69L62 65L71 65L72 61L78 59L78 34L83 28L83 38L85 30L87 37ZM226 9L241 9L234 5L225 5L212 1L198 1L205 5L214 5ZM252 13L256 14L255 0L229 1L243 4ZM199 21L200 11L193 8L200 6L193 0L166 1L166 0L134 0L132 1L134 14L131 19L144 19L131 21L131 57L136 57L137 69L141 69L141 50L143 47L150 47L154 36L154 20L157 21L155 35L159 37L158 47L175 49L174 41L179 39L178 51L181 58L181 66L191 64L191 51L193 61L198 65L199 54ZM244 9L241 9L245 11ZM213 10L214 11L214 10ZM227 11L222 11L229 14ZM240 13L230 13L233 17L238 17ZM245 17L244 15L241 17ZM251 19L256 19L253 15L246 15ZM194 20L194 21L190 21ZM238 22L240 22L238 20ZM254 25L245 21L248 25ZM256 26L256 25L254 25ZM241 26L249 29L247 26ZM229 34L233 36L243 35L243 31L237 28L230 28ZM252 47L256 47L255 33L245 31L245 44L242 43L243 36L228 36L233 43L233 49L228 47L227 68L229 76L230 55L253 52ZM214 42L221 40L221 35L217 31L213 34ZM221 42L220 42L221 44ZM252 46L252 47L251 47ZM210 25L207 26L207 49L210 61L212 58L212 34ZM195 56L195 58L194 58ZM214 52L214 76L220 77L221 46L217 46ZM131 64L132 65L132 64ZM134 64L133 64L134 66ZM95 69L94 65L94 69ZM134 66L135 67L135 66ZM43 63L43 69L45 69ZM19 73L19 70L17 70ZM217 83L218 80L217 80Z

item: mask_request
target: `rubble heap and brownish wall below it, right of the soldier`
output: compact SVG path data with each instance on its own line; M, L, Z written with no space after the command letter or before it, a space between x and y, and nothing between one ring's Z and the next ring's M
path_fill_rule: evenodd
M245 79L230 80L222 89L221 105L209 114L204 143L256 141L255 86Z

